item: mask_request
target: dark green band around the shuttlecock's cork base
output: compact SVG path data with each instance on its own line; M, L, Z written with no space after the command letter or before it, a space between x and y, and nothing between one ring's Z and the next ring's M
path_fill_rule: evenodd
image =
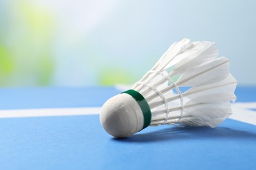
M144 117L144 125L142 127L142 129L150 126L151 123L151 110L150 107L148 105L148 102L146 101L146 99L137 91L135 90L127 90L123 93L127 93L129 95L131 95L139 104L140 109L142 110L143 113L143 117Z

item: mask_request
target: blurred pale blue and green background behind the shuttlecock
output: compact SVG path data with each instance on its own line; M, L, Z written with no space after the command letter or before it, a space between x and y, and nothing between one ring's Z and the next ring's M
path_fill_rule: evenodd
M0 0L0 86L130 84L184 37L255 85L255 18L253 0Z

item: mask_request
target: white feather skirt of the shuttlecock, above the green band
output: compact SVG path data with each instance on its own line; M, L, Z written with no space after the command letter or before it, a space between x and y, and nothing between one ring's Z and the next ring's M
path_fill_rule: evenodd
M217 56L214 42L189 39L175 42L161 56L133 86L150 105L151 126L215 127L232 114L236 79L229 73L229 60ZM181 86L189 89L181 93Z

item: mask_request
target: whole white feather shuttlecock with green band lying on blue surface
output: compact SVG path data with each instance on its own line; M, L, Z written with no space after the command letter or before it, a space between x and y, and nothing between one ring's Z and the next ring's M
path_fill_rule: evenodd
M232 114L237 82L229 60L217 56L213 42L175 42L131 90L104 103L102 126L114 137L163 124L218 126Z

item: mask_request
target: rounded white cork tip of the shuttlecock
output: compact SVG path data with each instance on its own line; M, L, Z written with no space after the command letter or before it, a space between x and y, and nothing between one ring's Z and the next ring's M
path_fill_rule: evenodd
M104 103L100 123L110 135L123 138L140 131L144 117L137 101L129 94L121 93Z

